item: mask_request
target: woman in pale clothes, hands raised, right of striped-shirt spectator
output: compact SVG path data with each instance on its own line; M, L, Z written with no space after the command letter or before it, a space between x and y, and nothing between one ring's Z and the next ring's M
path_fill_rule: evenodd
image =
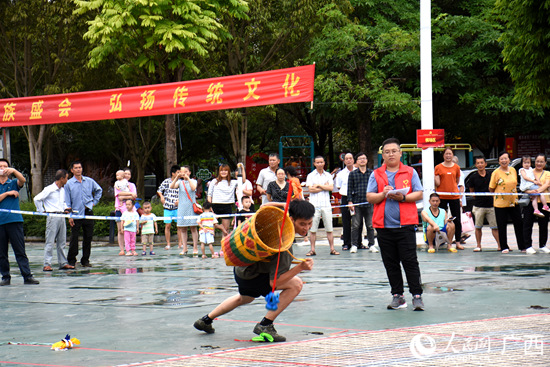
M197 180L191 178L189 166L181 167L179 173L170 183L171 189L179 189L178 199L178 237L183 243L180 255L187 254L187 228L191 230L193 238L193 254L198 254L199 232L197 231L198 215L193 211L193 203L196 202L195 191Z

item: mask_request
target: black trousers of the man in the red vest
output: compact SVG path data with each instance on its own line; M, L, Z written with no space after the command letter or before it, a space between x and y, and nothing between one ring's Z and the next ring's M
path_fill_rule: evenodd
M409 292L422 294L420 267L416 257L416 236L414 226L401 228L377 228L378 244L382 262L391 286L392 294L403 294L403 276L401 265L405 270Z

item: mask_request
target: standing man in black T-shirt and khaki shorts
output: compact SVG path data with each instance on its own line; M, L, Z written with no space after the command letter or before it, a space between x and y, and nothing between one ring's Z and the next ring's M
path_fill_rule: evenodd
M475 157L475 165L477 172L472 172L470 175L470 180L468 182L468 188L470 192L489 192L489 183L491 182L491 175L487 174L485 168L487 167L487 162L485 161L484 156ZM500 251L500 242L498 240L498 227L497 219L495 217L495 208L493 207L493 197L492 196L474 196L474 206L472 208L472 213L475 217L475 234L477 247L474 249L474 252L481 251L481 228L483 228L483 223L485 218L489 222L489 228L491 228L491 233L497 241L498 250Z

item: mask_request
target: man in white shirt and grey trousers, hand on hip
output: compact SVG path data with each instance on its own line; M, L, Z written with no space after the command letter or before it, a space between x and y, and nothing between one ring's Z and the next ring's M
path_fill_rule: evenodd
M65 189L63 186L69 179L69 173L59 169L55 173L55 182L46 186L34 197L36 210L41 213L63 214L65 212ZM74 269L67 263L65 244L67 241L67 225L64 217L50 217L46 219L46 246L44 247L44 271L52 271L52 248L55 242L57 247L57 262L59 269Z

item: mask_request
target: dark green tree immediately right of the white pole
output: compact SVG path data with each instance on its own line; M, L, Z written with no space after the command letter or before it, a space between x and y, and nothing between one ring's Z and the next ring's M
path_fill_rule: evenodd
M432 21L434 126L445 128L448 141L473 144L488 156L503 147L505 135L529 131L528 121L543 116L542 108L514 98L492 6L441 1Z

